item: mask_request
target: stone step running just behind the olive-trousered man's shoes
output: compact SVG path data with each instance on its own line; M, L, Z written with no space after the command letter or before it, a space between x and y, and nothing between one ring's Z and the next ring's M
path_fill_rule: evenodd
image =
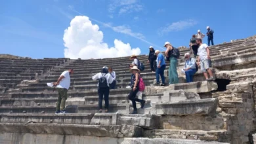
M123 113L129 114L129 103L123 104L110 104L109 113ZM104 105L102 105L104 107ZM55 113L56 106L2 106L0 107L0 113ZM97 113L98 105L66 105L66 111L68 113Z

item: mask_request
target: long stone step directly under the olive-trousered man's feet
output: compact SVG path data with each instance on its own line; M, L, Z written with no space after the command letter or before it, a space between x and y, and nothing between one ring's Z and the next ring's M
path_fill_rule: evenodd
M124 115L117 113L81 113L81 114L1 114L1 123L49 123L49 124L86 124L86 125L131 125L142 128L159 128L158 115Z

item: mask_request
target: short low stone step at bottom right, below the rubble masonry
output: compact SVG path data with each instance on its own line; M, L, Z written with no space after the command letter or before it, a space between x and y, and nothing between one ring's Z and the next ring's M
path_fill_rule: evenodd
M171 139L193 139L205 141L230 141L226 130L146 130L144 131L145 137L150 138L171 138Z

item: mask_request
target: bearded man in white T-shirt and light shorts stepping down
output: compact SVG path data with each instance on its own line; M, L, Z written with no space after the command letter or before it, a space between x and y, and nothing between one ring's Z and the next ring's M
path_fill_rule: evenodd
M198 48L198 66L200 64L201 71L207 81L214 81L213 72L211 71L211 57L208 45L202 44L202 39L197 39L196 43L199 45ZM210 78L208 77L208 74ZM209 79L208 79L209 78Z

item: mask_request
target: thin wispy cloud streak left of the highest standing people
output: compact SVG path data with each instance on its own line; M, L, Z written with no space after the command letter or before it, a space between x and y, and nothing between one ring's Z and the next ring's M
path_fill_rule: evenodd
M171 31L181 31L183 29L187 29L188 27L192 27L198 24L196 20L181 20L179 22L173 22L172 24L167 24L165 27L161 27L158 29L158 34L163 35L165 33L169 33Z

